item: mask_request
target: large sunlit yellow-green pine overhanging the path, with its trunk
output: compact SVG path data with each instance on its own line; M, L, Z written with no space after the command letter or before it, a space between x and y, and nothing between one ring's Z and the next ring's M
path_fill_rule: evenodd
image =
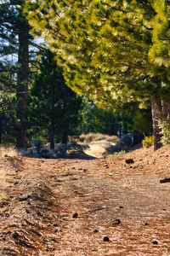
M163 2L26 1L33 32L47 39L73 90L102 108L150 102L155 149L161 146L162 102L170 95L168 70L150 57L157 33L155 19L161 23L161 32L167 24L162 18Z

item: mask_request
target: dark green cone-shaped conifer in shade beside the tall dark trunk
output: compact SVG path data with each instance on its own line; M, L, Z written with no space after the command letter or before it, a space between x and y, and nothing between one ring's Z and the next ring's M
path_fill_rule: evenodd
M54 139L67 143L68 134L75 135L81 110L81 97L65 85L54 55L47 49L42 55L40 70L35 77L28 100L27 121L31 132L48 131L50 147ZM35 133L34 133L35 136Z

